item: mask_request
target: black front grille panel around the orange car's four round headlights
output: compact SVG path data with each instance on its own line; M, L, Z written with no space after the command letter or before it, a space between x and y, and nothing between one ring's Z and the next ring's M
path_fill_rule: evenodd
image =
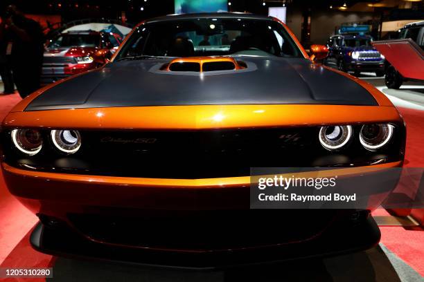
M49 131L37 155L23 156L3 132L6 162L22 169L144 178L222 178L249 176L251 167L352 167L403 159L403 127L378 152L359 142L353 126L350 144L327 151L319 127L200 131L80 131L82 146L64 156L53 149Z

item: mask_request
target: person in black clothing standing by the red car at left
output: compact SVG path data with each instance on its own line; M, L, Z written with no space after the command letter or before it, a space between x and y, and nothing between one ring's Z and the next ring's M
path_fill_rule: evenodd
M40 87L44 53L42 27L10 5L0 24L0 41L5 39L12 41L13 79L19 95L24 98Z

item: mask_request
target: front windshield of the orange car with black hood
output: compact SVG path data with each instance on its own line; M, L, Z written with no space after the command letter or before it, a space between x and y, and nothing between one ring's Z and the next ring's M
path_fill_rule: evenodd
M301 51L276 21L196 18L139 26L116 59L220 55L301 57Z

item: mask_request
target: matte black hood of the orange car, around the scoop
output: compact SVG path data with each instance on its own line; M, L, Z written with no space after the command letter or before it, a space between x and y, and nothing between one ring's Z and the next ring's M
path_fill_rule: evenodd
M170 60L108 64L36 97L26 111L114 106L206 104L378 105L360 84L308 59L237 57L246 71L165 73Z

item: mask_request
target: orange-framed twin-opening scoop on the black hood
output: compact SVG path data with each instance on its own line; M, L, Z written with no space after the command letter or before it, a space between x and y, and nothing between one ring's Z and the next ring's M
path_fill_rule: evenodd
M247 68L244 62L232 57L188 57L173 59L161 71L206 73L211 71L240 71Z

